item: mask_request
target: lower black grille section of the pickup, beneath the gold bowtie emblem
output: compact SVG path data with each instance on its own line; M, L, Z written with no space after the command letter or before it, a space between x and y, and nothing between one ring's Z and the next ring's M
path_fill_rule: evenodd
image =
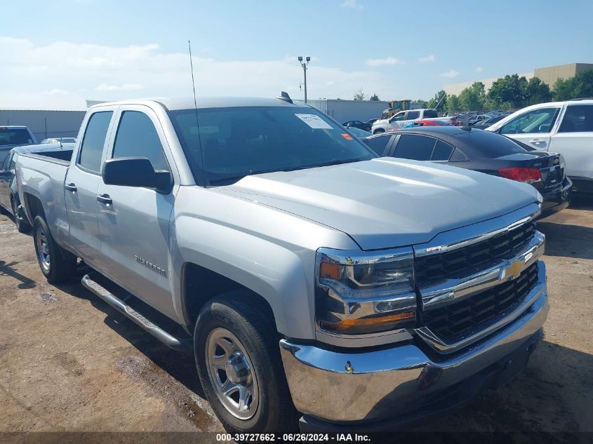
M453 302L439 309L422 312L422 323L444 342L456 342L483 330L512 312L538 281L538 263L521 276L494 288Z

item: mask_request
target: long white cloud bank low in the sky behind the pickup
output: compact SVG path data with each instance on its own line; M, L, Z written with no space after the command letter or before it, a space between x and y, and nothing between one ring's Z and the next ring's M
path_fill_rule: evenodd
M86 99L192 95L185 48L158 45L102 46L55 42L37 45L0 36L0 108L85 109ZM199 53L199 51L198 51ZM218 60L195 55L197 95L274 97L288 90L302 99L302 69L295 54L276 60ZM399 61L388 58L388 64ZM375 65L375 66L380 66ZM286 88L291 86L291 88ZM351 99L360 88L397 97L401 84L371 68L345 70L314 59L307 72L309 97Z

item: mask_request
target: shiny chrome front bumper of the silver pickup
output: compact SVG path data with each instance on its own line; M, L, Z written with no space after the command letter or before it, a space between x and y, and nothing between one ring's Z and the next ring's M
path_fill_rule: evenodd
M281 339L297 410L330 422L372 422L408 412L419 398L472 377L538 332L549 311L545 276L545 264L539 261L538 283L526 296L534 300L531 307L491 335L447 355L410 343L339 352Z

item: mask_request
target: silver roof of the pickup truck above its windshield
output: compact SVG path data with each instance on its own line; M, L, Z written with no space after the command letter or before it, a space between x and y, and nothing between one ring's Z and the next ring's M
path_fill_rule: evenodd
M142 105L145 102L157 102L166 109L228 108L228 107L308 107L302 102L286 102L276 97L145 97L135 100L104 102L93 107L106 105Z

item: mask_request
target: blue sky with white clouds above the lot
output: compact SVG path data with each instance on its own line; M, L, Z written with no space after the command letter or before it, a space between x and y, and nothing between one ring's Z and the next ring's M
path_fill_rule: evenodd
M593 1L3 1L0 109L192 95L429 99L446 83L593 63Z

